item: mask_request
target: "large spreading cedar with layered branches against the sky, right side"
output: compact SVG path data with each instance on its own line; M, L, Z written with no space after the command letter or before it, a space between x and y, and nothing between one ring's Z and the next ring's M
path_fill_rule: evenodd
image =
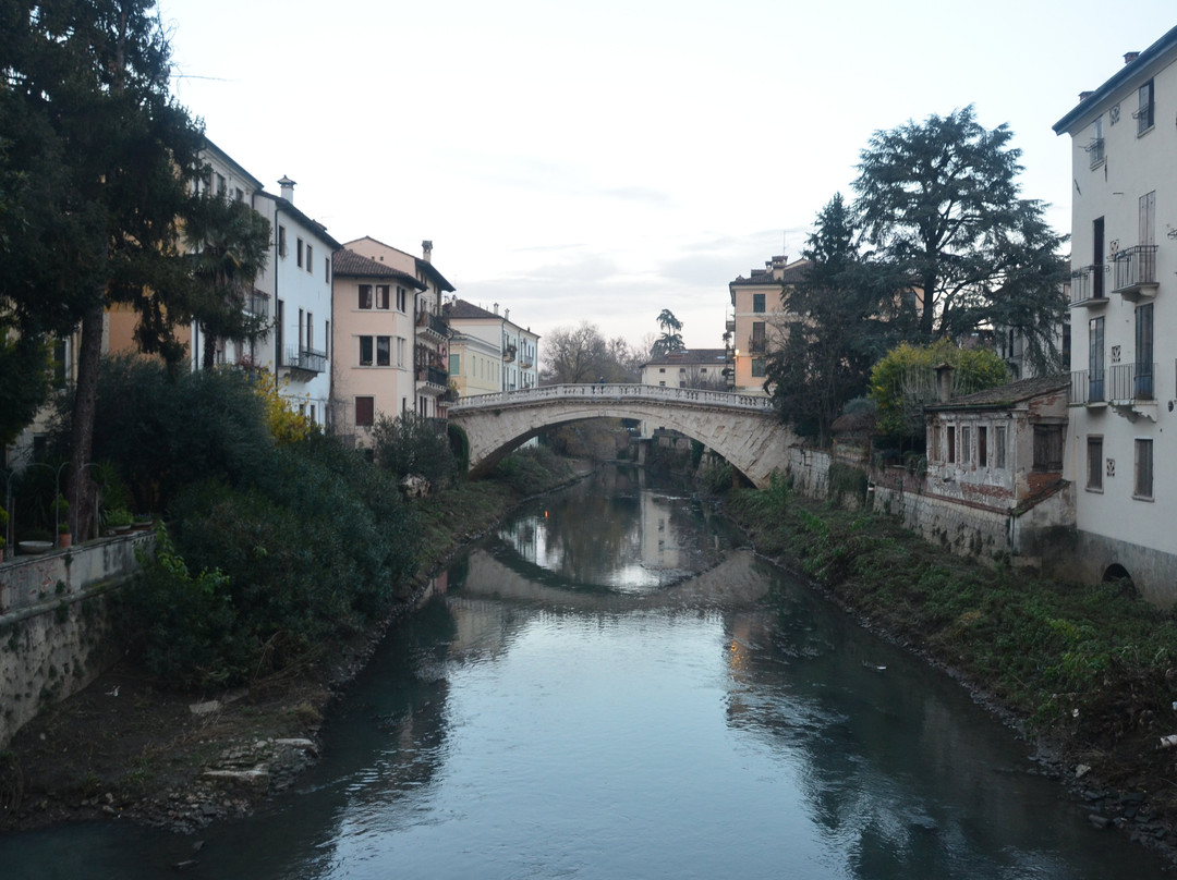
M856 211L878 256L920 298L918 338L958 339L995 325L1028 342L1039 371L1058 367L1064 262L1040 201L1019 198L1020 151L971 106L876 132L862 153Z

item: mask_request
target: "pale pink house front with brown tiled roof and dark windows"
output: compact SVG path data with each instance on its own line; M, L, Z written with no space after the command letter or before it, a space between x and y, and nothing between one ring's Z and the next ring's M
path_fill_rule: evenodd
M347 248L332 264L332 431L371 448L381 414L415 412L413 299L425 284Z

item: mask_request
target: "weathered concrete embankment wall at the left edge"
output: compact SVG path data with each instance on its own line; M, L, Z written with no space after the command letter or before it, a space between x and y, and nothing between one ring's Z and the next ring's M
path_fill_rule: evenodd
M107 596L155 535L104 538L0 564L0 748L45 705L93 681L113 660Z

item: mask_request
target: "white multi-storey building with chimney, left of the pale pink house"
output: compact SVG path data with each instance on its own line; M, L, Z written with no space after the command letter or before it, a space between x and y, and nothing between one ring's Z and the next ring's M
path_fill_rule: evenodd
M270 221L270 260L255 287L274 304L272 367L279 393L311 421L324 425L331 399L331 261L340 245L322 224L294 207L294 181L281 195L260 192L253 207Z

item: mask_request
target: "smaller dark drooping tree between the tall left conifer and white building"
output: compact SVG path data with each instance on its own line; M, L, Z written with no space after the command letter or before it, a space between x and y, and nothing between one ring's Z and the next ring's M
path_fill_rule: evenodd
M192 248L191 311L204 339L201 366L212 369L218 340L253 341L266 333L265 316L250 314L245 304L270 254L270 221L245 202L206 189L192 201L184 238Z

